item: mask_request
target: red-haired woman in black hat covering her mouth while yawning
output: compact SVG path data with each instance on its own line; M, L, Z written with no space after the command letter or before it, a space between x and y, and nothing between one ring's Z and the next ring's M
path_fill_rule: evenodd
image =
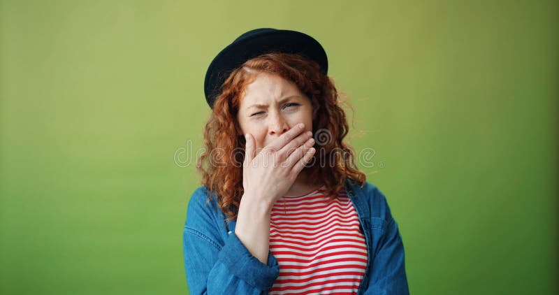
M191 294L408 294L398 225L356 168L326 52L255 29L212 61L184 225Z

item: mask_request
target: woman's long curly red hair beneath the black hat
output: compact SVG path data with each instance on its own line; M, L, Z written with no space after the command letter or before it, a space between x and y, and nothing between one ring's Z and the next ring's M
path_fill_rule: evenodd
M237 217L244 192L240 164L245 157L245 137L240 135L237 122L240 99L245 87L261 72L273 73L295 83L312 101L313 114L316 114L312 131L317 152L305 166L309 179L321 180L331 196L342 191L346 178L363 186L365 173L358 170L353 150L343 142L349 126L333 80L321 73L316 62L303 56L269 53L249 59L231 72L205 124L205 152L198 159L198 171L202 174L202 184L208 188L210 196L217 196L219 207L228 219Z

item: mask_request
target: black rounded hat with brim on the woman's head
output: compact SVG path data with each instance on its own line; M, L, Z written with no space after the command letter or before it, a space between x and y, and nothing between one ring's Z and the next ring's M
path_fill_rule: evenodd
M219 52L205 73L205 100L210 108L222 92L222 85L234 69L247 60L269 52L298 53L317 62L324 75L328 58L320 43L298 31L270 28L253 29L242 34Z

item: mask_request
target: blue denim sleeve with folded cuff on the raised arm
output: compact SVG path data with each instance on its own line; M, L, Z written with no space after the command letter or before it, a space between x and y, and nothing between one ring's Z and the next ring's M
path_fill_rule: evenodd
M271 252L263 264L231 232L225 235L214 203L205 193L194 192L183 234L184 268L190 294L266 294L279 265ZM220 226L221 224L222 226Z

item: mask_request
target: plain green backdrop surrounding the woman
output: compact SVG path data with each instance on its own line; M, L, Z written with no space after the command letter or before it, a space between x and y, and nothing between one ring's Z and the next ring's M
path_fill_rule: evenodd
M1 294L187 292L205 70L256 27L326 48L412 294L558 291L557 1L0 7Z

